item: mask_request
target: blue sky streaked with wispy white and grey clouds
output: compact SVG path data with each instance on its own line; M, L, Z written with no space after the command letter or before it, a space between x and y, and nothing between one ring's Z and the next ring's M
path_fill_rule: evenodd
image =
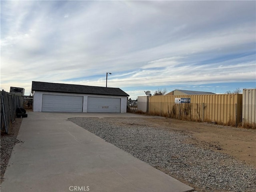
M1 90L256 88L255 1L1 1Z

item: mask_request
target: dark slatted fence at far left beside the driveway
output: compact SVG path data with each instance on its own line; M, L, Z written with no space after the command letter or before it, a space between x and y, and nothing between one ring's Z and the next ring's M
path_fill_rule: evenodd
M23 98L20 95L10 94L4 90L1 94L1 132L8 134L15 121L16 108L23 106Z

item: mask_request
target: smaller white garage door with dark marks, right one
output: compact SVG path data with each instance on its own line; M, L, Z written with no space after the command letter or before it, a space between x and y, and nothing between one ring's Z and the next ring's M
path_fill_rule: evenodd
M120 98L88 97L87 112L120 113Z

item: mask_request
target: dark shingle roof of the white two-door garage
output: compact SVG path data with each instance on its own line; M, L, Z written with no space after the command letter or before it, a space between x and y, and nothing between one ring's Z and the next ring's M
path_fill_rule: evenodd
M129 96L120 88L32 81L32 91Z

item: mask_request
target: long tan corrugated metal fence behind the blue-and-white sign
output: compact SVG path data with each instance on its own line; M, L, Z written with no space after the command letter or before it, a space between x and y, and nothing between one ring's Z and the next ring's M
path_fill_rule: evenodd
M190 104L177 104L175 98L190 98ZM142 100L138 97L138 108L139 99ZM145 110L145 107L143 109ZM236 126L242 122L242 94L151 96L149 113Z

